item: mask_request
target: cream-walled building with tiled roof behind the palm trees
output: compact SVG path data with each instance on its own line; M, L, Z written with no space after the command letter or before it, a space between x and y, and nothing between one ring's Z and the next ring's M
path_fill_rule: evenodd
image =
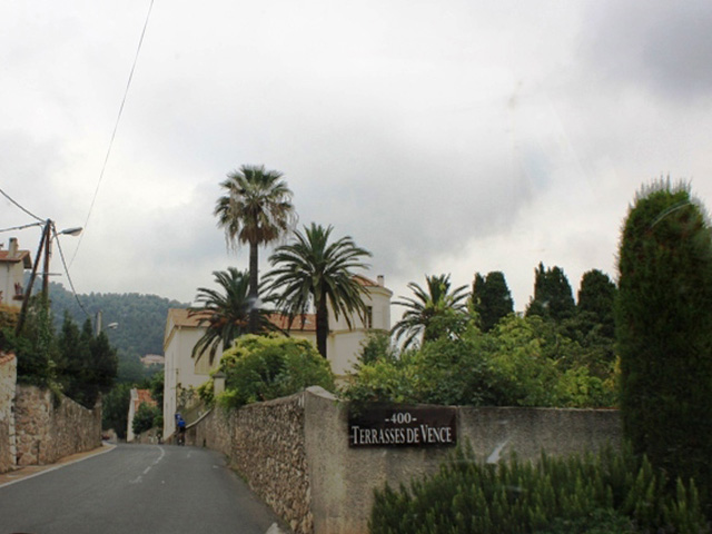
M362 343L369 332L390 330L390 297L393 291L384 285L384 277L377 281L357 275L355 279L364 287L364 304L367 314L365 320L352 317L352 328L344 316L336 320L329 310L330 333L327 338L327 358L336 376L344 376L350 372L357 360ZM312 314L296 317L289 326L285 316L274 316L271 320L287 330L291 337L308 339L316 346L316 317ZM189 317L187 309L171 308L168 310L166 334L164 337L164 353L166 355L165 390L164 390L164 436L170 436L175 429L176 407L180 404L177 396L189 387L198 387L210 378L210 372L217 368L222 354L218 348L215 360L209 362L208 353L192 357L192 347L206 332L199 326L198 317Z

